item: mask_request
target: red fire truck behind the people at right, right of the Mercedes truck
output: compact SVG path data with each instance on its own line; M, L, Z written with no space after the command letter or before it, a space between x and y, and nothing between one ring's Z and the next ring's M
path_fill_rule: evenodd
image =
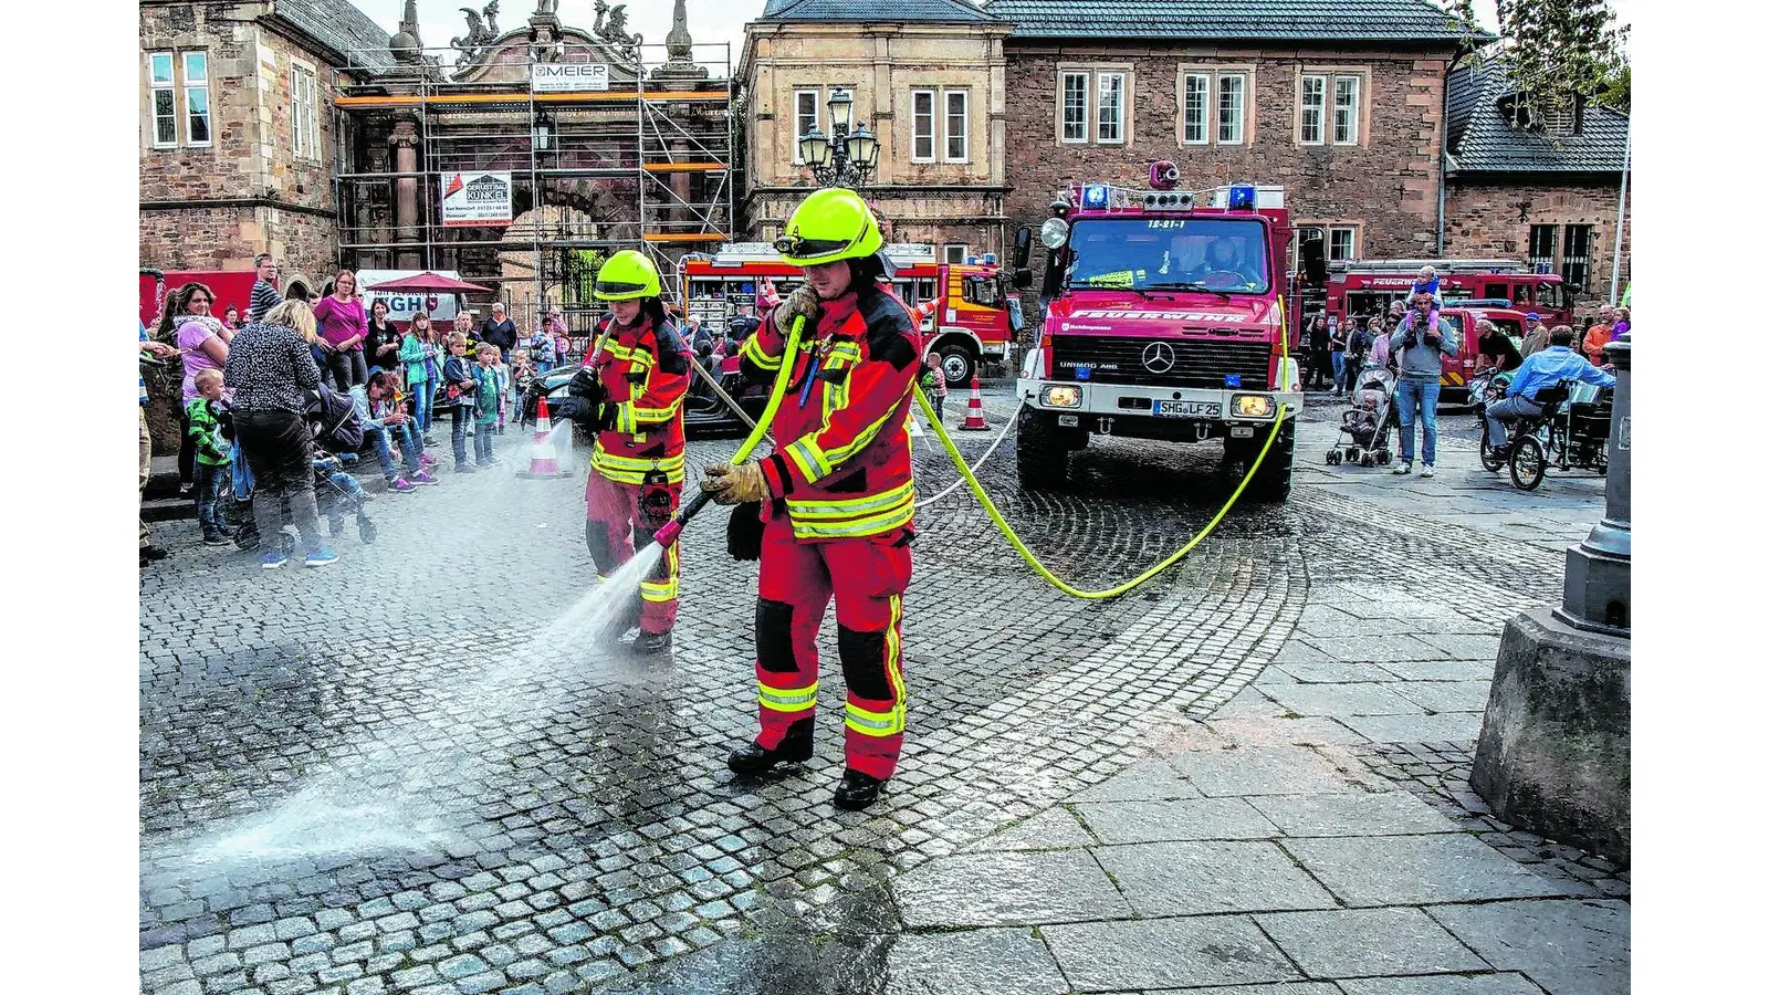
M1444 305L1456 301L1511 301L1520 312L1537 312L1548 326L1573 324L1573 297L1560 276L1530 273L1514 258L1341 258L1327 266L1327 320L1387 313L1431 266Z

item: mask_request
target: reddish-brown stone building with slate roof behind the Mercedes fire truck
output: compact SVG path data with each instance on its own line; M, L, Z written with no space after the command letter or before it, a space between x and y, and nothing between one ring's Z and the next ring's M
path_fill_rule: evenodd
M1329 255L1438 244L1444 80L1463 30L1426 0L992 0L1007 39L1010 227L1067 182L1283 184Z

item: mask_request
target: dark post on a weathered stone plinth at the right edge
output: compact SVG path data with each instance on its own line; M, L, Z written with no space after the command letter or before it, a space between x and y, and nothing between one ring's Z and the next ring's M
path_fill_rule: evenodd
M1505 625L1474 754L1474 790L1498 818L1629 864L1631 345L1617 382L1603 521L1567 551L1560 607Z

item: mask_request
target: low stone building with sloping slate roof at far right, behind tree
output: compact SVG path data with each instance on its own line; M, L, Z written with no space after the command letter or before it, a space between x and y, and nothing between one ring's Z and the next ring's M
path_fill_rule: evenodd
M1449 76L1449 253L1523 258L1583 299L1608 299L1627 117L1580 103L1557 120L1518 108L1498 62ZM1629 232L1624 218L1622 274Z

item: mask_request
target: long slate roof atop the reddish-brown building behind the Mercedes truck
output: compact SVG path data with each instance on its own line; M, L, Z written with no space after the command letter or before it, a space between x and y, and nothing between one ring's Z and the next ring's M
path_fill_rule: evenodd
M1461 41L1428 0L989 0L987 11L1022 39Z

